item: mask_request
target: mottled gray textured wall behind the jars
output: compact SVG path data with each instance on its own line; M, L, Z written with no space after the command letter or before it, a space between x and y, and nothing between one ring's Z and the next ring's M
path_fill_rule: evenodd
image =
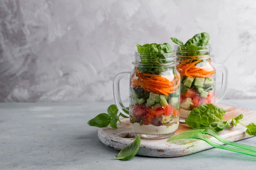
M230 71L225 98L254 98L255 9L255 0L0 0L0 101L111 101L136 43L202 31ZM127 82L121 90L127 99Z

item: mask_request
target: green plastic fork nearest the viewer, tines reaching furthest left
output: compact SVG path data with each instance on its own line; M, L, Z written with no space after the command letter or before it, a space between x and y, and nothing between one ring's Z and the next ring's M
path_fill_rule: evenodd
M256 156L255 151L217 144L215 142L212 142L211 139L209 139L209 137L204 133L192 132L192 130L189 130L189 131L190 131L190 133L183 132L178 135L172 136L167 141L170 142L170 141L177 140L177 139L201 139L201 140L204 140L205 142L207 142L208 144L210 144L212 147L229 150L229 151L233 151L233 152L237 152L237 153L242 153L242 154L246 154L246 155L250 155L250 156Z

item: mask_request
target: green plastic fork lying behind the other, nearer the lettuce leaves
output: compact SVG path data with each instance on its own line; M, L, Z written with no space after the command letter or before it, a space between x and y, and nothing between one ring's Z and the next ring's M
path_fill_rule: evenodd
M256 152L256 147L254 147L254 146L250 146L250 145L247 145L247 144L240 144L240 143L236 143L236 142L231 142L231 141L228 141L227 139L222 138L216 132L216 130L214 130L212 127L203 127L203 128L191 129L191 130L185 131L184 133L192 133L192 132L193 133L199 132L199 133L204 133L204 134L207 134L207 135L211 135L211 136L215 137L216 139L218 139L220 142L222 142L224 144L229 144L231 146L240 147L240 148L247 149L247 150L253 150L253 151Z

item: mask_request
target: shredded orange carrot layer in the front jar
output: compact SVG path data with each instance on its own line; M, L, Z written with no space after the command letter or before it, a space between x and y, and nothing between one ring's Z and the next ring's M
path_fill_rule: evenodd
M136 72L131 77L131 86L134 88L141 86L145 91L168 96L168 94L177 92L180 83L179 75L172 77L170 81L171 77L141 73L136 68Z

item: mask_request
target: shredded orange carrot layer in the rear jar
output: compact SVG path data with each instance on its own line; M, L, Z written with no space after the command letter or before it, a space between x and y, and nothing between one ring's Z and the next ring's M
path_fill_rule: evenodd
M198 59L193 62L193 60L196 59L196 56L189 57L190 59L185 59L180 61L180 64L177 65L177 70L180 72L181 76L186 76L190 78L194 77L203 77L203 78L209 78L212 77L213 74L215 74L215 69L210 65L211 60L209 61L209 66L207 67L197 67L196 64L198 62L201 62L203 59Z

